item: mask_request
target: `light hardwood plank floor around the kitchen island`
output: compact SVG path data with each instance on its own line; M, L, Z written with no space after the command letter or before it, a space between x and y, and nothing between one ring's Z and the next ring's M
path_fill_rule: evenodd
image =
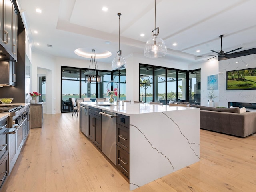
M178 146L177 146L178 147ZM127 180L78 131L71 113L44 114L5 182L6 192L128 192ZM134 192L255 192L256 136L200 130L200 162Z

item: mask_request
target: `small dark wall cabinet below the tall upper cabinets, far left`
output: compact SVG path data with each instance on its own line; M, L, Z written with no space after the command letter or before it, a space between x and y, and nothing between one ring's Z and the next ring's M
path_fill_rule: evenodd
M0 84L16 86L16 62L0 61Z

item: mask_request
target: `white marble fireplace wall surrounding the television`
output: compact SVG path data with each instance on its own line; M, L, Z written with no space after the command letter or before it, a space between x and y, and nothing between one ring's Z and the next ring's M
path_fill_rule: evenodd
M256 67L256 54L219 61L219 106L228 102L256 103L256 90L226 90L226 71Z

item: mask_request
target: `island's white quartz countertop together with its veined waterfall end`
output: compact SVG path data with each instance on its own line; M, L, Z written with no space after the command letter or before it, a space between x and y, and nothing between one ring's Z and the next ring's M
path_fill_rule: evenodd
M116 102L113 105L108 102L82 102L81 105L116 113L116 125L128 122L128 138L119 135L119 125L113 130L116 129L117 138L116 166L122 163L124 168L128 166L126 176L129 177L130 190L200 160L198 108L129 102L124 106L117 106ZM102 129L104 126L102 122ZM119 137L120 140L128 140L128 150L123 148L128 152L128 160L125 156L118 156Z

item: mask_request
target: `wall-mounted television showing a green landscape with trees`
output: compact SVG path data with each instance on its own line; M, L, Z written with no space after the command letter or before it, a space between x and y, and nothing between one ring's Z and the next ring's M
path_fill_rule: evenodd
M226 90L256 89L256 68L226 72Z

